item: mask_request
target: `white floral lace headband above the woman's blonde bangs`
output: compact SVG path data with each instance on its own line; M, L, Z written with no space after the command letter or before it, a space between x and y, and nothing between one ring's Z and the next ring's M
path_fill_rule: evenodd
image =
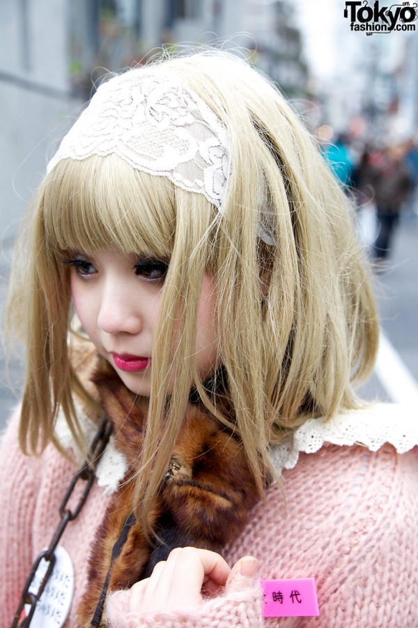
M224 124L167 73L130 70L103 83L47 166L116 154L132 167L203 194L222 209L229 174Z

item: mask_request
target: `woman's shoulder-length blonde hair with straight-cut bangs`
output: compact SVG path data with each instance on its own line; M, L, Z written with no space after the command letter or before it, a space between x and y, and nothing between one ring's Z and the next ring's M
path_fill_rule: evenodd
M27 350L22 448L54 440L60 406L81 442L73 395L88 395L68 359L70 287L60 257L68 248L111 248L169 260L137 484L145 525L192 383L242 440L262 493L268 445L311 417L358 405L353 384L371 371L378 344L352 209L279 91L225 53L149 67L178 75L228 129L231 172L222 212L203 195L116 156L63 160L40 186L31 250L10 309ZM261 224L269 230L264 240ZM194 366L205 271L215 279L219 366L232 415L206 394Z

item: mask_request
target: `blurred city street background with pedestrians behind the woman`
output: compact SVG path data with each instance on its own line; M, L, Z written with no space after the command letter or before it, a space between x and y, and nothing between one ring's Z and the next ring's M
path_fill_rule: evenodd
M368 398L418 401L418 20L396 30L345 0L2 0L0 308L13 242L49 158L108 70L163 46L214 45L277 82L357 209L376 267L384 331ZM360 4L360 3L359 3ZM380 1L380 7L385 3ZM383 17L382 17L383 15ZM360 30L364 26L369 30ZM417 29L416 29L417 27ZM219 43L217 43L219 45ZM22 355L0 354L0 425L22 387ZM13 390L15 392L13 392Z

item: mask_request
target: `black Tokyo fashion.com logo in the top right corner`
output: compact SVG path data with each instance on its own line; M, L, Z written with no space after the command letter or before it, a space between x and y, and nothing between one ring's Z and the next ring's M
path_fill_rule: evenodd
M403 2L380 6L379 0L369 6L368 0L346 2L344 17L350 20L352 31L392 33L392 31L415 31L418 17L417 2Z

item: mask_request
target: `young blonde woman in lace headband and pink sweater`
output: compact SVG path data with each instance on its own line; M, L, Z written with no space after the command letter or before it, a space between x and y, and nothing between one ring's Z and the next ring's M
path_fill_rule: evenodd
M417 428L355 396L378 322L351 208L265 77L208 52L102 84L12 291L4 625L414 625ZM318 617L263 618L261 580L302 604L284 578Z

